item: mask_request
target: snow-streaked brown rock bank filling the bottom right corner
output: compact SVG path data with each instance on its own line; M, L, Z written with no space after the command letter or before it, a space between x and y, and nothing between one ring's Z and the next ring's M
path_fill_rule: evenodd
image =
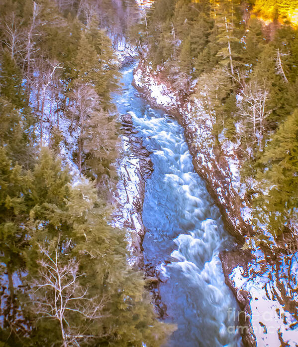
M298 346L298 252L266 254L223 252L226 283L240 308L240 326L250 333L248 346Z

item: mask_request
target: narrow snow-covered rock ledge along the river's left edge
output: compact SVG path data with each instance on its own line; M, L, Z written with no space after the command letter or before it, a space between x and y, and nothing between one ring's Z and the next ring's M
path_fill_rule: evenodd
M142 221L145 180L150 176L152 163L149 152L142 146L133 128L131 116L122 115L122 157L117 163L119 181L114 199L117 207L113 224L126 228L131 266L143 268L142 240L145 228Z

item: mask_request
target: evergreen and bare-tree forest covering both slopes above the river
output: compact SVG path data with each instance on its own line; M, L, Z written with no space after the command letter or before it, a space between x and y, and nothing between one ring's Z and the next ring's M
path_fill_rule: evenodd
M135 0L0 1L0 347L158 347L175 329L112 224L122 41L199 105L212 146L237 144L251 240L265 225L297 241L298 1L143 14Z

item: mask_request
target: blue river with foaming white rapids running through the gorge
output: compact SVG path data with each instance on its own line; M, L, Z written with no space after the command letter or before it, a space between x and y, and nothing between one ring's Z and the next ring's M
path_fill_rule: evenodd
M138 95L132 75L131 67L123 71L122 94L114 102L119 113L131 114L138 136L153 152L143 205L144 260L160 268L165 279L162 302L167 320L178 326L168 346L241 346L229 329L236 324L229 312L238 308L218 256L233 240L194 171L182 127Z

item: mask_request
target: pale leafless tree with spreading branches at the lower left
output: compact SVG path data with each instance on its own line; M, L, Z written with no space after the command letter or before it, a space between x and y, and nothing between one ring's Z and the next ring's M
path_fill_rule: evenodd
M90 297L89 288L83 287L79 261L61 253L60 238L54 244L38 244L40 260L38 272L30 285L30 298L39 319L57 320L63 347L80 346L80 343L95 338L87 334L94 320L106 317L102 314L105 296ZM74 321L82 319L84 324Z

